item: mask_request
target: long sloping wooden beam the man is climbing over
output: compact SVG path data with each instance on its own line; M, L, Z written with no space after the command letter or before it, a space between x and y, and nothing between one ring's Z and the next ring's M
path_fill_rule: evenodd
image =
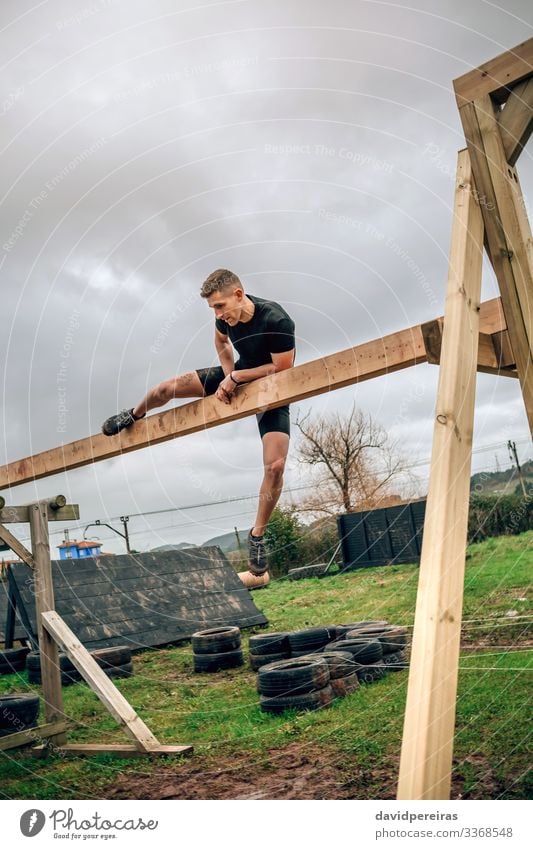
M499 298L481 304L480 319L487 333L505 330ZM230 406L210 396L141 419L118 436L97 434L8 463L0 467L0 489L158 445L426 361L422 330L416 325L320 360L312 360L273 377L255 380L238 390ZM0 513L0 521L2 515Z

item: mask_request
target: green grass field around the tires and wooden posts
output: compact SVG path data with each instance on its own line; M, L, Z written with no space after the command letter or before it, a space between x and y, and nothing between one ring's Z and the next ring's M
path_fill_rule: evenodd
M532 652L525 601L533 564L533 532L490 539L468 550L464 626L454 748L455 795L529 798L528 685ZM280 580L254 594L270 630L294 630L358 619L412 625L416 566L388 566L298 582ZM259 629L256 629L259 631ZM247 646L250 631L243 634ZM529 641L530 644L530 641ZM514 650L513 650L514 649ZM298 744L334 767L353 798L394 795L407 672L361 687L329 710L262 714L255 675L246 666L209 675L191 672L190 645L147 650L135 676L117 685L161 742L190 743L192 759L130 761L110 756L35 760L28 750L0 755L0 797L106 798L118 772L132 780L158 770L213 770L253 762L274 768ZM0 693L40 691L26 673L0 677ZM63 691L76 723L69 740L124 742L124 735L85 684ZM277 753L273 755L273 751Z

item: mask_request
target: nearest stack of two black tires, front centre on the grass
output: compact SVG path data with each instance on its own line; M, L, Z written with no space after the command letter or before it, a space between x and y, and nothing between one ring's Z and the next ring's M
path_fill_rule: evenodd
M265 713L320 710L334 694L325 658L289 658L262 666L257 673L259 705Z

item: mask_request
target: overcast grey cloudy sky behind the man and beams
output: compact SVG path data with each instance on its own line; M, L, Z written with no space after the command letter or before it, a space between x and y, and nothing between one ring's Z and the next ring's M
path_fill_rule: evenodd
M464 146L452 80L532 25L530 0L3 0L1 462L212 364L199 288L215 268L289 311L300 363L442 314ZM420 365L298 407L355 399L422 462L436 380ZM480 375L474 469L508 465L510 438L531 455L518 383ZM8 502L62 492L84 524L253 494L261 476L248 418ZM304 483L293 452L287 486ZM133 518L132 544L199 543L253 507Z

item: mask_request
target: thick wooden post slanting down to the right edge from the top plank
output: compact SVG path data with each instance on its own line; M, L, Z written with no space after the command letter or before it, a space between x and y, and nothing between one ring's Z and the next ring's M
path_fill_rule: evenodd
M500 286L516 370L533 433L533 240L515 169L505 159L489 96L460 110Z

